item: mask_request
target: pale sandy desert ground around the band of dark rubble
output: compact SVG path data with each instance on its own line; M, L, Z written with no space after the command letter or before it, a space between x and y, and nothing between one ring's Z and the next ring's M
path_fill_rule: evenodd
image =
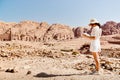
M0 57L0 80L120 80L120 58L101 56L101 64L103 62L109 62L111 65L115 65L115 70L103 68L103 74L91 74L95 69L94 59L90 54L75 54L76 51L84 43L89 41L84 39L74 39L71 41L61 42L47 42L47 43L35 43L35 42L1 42L2 45L7 43L7 49L10 45L21 44L29 45L26 49L28 51L36 49L51 50L54 53L62 53L64 55L57 55L57 57L41 56L41 55L25 55L22 57ZM9 46L8 46L9 43ZM102 45L102 48L120 48L119 45L107 44ZM5 47L4 47L5 48ZM2 51L5 52L3 46ZM14 49L16 49L14 47ZM17 47L21 51L25 51L23 48ZM70 50L73 51L64 51ZM9 49L9 51L14 51ZM8 52L8 50L6 51ZM24 54L24 53L23 53ZM34 53L35 54L35 53ZM67 54L67 55L65 55ZM55 55L56 56L56 55ZM13 73L7 72L7 69L13 69Z

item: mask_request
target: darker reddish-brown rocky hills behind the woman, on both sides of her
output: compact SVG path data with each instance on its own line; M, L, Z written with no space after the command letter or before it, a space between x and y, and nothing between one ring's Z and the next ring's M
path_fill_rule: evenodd
M116 23L114 21L108 21L101 26L102 35L113 35L120 34L120 23ZM80 37L82 32L90 33L90 30L86 28L81 29L81 27L73 28L73 32L75 37Z

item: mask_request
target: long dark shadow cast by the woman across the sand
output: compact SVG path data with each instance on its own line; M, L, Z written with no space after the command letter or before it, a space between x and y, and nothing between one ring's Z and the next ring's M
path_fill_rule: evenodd
M36 74L34 77L38 77L38 78L49 78L49 77L58 77L58 76L74 76L74 75L87 75L87 73L81 73L81 74L47 74L45 72L41 72Z

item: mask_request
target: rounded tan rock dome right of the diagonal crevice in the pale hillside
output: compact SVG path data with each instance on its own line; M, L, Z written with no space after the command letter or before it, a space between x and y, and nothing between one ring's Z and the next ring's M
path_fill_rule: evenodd
M74 33L69 26L53 24L47 30L44 40L69 40L74 38Z

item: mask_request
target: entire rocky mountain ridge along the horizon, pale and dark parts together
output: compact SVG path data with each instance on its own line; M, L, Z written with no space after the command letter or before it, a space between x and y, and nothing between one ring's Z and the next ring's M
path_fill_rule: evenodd
M120 34L120 23L108 21L101 26L102 35ZM63 24L48 24L47 22L21 21L0 22L0 40L22 40L22 41L49 41L70 40L81 37L83 32L90 30L83 27L70 27Z

